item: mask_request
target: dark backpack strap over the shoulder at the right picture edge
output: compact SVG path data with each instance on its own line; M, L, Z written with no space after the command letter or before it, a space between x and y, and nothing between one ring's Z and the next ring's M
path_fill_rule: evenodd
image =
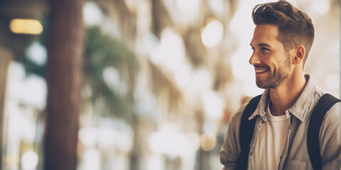
M311 113L307 134L307 147L310 162L313 165L314 170L322 169L319 135L325 113L327 113L327 111L337 102L340 102L340 100L330 94L325 94L320 98L315 105L313 113Z

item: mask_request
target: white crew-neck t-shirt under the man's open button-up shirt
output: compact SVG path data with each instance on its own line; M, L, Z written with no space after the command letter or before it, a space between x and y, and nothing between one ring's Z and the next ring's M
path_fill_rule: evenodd
M254 157L251 159L254 166L252 169L278 169L279 160L286 144L288 135L286 115L271 115L268 102L266 119L254 147Z

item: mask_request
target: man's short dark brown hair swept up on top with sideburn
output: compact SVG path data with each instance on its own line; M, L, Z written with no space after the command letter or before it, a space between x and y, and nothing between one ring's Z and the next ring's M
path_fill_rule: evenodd
M315 28L307 13L301 11L288 1L277 1L258 4L252 9L255 25L274 24L278 26L279 42L288 51L297 45L305 47L303 67L314 42Z

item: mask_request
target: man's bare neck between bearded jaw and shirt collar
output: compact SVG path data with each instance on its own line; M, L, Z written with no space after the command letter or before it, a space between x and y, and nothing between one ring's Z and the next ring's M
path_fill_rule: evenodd
M270 111L272 115L285 115L301 95L306 81L304 74L299 77L290 77L282 84L270 89Z

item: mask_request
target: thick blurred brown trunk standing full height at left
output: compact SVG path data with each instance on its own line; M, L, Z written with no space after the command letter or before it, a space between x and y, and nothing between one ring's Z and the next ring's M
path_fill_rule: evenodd
M82 86L82 0L52 0L44 169L76 169Z

